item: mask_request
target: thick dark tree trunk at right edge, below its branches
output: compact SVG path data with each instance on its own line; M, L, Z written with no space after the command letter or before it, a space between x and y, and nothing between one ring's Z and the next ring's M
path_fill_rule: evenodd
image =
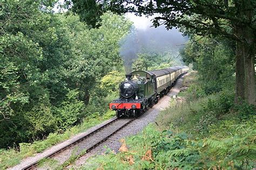
M235 103L246 101L249 104L255 103L255 42L254 35L250 28L237 27L237 36L241 41L237 41L236 52L236 96Z

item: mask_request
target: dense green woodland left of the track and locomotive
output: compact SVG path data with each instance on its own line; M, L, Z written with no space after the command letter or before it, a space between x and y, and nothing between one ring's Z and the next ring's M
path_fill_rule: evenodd
M103 114L120 80L102 78L124 74L119 41L131 22L105 13L102 26L89 29L77 16L53 13L43 3L1 5L0 147Z

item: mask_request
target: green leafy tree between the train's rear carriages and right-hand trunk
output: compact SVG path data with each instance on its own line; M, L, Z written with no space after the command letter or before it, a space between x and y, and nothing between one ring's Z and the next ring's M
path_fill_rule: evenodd
M233 87L234 55L233 41L200 36L191 37L181 51L183 60L198 70L206 94Z

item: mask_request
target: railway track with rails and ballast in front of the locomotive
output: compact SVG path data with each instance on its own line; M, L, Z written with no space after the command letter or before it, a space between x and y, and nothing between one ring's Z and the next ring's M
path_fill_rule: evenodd
M106 139L111 137L114 133L123 129L126 125L130 124L132 121L134 121L134 118L118 119L116 117L116 118L112 119L110 122L106 123L105 125L100 126L95 131L92 131L92 132L86 134L85 136L82 136L82 137L78 138L77 140L72 141L72 143L59 148L58 150L46 155L42 159L37 160L30 165L23 167L22 169L36 169L41 160L47 159L47 158L55 159L55 157L58 157L58 155L60 155L60 154L63 154L65 156L68 155L68 158L69 158L70 153L66 154L64 152L70 152L70 150L73 151L73 150L75 150L75 148L78 148L78 151L76 151L77 153L75 153L75 157L77 159L77 158L81 157L82 155L84 155L83 151L86 151L86 153L90 152L93 148L98 146L100 143L103 143L103 141L105 141ZM85 146L79 146L80 143L84 143ZM66 159L65 161L67 161L67 160L68 159ZM65 165L65 161L63 163L61 163L61 165L64 167L68 166L68 165Z

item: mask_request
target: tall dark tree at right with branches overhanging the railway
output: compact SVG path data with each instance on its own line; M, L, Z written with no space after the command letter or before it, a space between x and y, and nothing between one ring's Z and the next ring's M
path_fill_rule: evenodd
M71 4L71 1L66 1ZM255 6L254 0L190 0L190 1L95 1L72 0L72 11L80 19L96 26L98 15L111 10L116 13L134 12L141 16L155 16L153 25L185 28L185 33L200 36L221 36L236 43L236 102L255 102ZM93 4L89 6L86 4Z

